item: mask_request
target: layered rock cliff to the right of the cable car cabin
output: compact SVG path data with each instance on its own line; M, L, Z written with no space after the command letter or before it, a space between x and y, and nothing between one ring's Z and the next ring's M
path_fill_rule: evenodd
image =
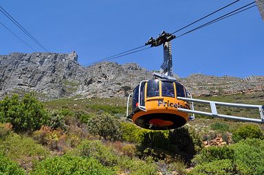
M196 96L230 95L264 91L264 76L234 78L193 74L188 78L179 78L179 82Z

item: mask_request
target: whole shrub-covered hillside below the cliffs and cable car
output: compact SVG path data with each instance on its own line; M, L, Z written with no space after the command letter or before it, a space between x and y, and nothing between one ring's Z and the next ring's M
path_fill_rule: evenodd
M206 98L263 103L257 97ZM263 126L197 116L191 125L152 131L120 118L125 104L117 98L42 103L33 94L5 97L0 101L0 174L264 174ZM202 141L216 138L227 145L203 146Z

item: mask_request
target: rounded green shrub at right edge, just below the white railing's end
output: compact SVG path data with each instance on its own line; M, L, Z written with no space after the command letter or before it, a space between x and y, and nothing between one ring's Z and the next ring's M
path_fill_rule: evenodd
M241 139L263 139L263 132L259 126L254 124L245 124L234 130L232 139L234 142L239 142Z

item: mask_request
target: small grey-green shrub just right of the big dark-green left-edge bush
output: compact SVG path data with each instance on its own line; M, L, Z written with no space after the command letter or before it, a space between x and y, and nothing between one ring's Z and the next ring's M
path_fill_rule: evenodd
M66 130L67 126L63 113L60 110L48 110L47 126L52 129L61 128Z

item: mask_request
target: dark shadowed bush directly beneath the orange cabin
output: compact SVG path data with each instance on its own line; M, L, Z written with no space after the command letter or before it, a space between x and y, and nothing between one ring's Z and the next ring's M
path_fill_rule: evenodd
M202 148L201 137L192 127L181 127L173 131L143 130L140 133L139 156L154 159L182 159L185 163Z

